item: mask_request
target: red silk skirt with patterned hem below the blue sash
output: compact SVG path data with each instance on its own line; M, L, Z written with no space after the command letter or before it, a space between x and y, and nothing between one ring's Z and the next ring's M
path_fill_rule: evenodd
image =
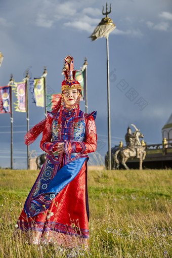
M57 243L74 247L89 245L87 161L77 176L54 198L45 212L27 218L24 209L18 227L28 243Z

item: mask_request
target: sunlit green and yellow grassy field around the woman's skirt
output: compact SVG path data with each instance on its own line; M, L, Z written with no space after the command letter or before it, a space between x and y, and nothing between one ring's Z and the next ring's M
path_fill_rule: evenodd
M172 257L172 170L89 171L89 251L14 240L37 173L0 170L1 257Z

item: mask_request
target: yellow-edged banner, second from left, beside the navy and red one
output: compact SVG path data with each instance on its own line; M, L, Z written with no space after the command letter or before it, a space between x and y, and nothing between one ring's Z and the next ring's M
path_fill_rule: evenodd
M17 97L15 111L26 112L26 82L15 82L12 89Z

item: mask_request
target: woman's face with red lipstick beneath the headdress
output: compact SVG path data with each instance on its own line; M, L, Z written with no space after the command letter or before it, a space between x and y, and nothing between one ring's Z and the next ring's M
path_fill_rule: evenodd
M64 91L64 103L66 108L72 108L77 100L78 94L77 89L65 90Z

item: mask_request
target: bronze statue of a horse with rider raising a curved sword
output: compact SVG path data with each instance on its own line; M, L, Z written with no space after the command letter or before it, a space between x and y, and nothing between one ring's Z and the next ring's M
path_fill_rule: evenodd
M140 161L139 169L142 169L142 163L146 156L146 150L145 150L146 146L142 146L139 138L143 138L144 135L140 133L140 130L134 124L131 124L131 125L134 126L136 131L132 135L130 133L131 128L128 127L129 134L127 133L125 135L125 140L126 140L127 146L118 149L114 153L112 169L118 169L120 162L124 166L125 169L129 169L128 166L125 164L127 159L128 158L136 158L136 157L139 158L139 161ZM127 142L127 139L129 139L128 135L130 138L130 142Z

